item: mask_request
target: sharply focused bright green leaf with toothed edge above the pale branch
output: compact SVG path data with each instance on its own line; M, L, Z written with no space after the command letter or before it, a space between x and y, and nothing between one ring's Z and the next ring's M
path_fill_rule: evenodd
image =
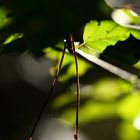
M115 45L117 41L126 40L130 34L140 39L140 31L119 26L113 21L106 20L101 23L90 21L84 29L84 44L99 51L100 53L110 45Z

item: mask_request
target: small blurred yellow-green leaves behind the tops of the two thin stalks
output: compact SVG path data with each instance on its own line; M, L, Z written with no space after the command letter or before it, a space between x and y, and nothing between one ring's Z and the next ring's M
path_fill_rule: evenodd
M44 49L44 53L47 57L53 59L56 61L56 66L51 70L51 73L54 75L55 70L58 68L59 61L58 59L61 58L62 50L64 47L64 43L61 41L58 44L56 44L56 48L60 49L59 51L56 51L55 49L52 49L52 47L48 47ZM85 72L91 67L89 63L86 61L83 61L82 59L78 59L78 67L79 67L79 76L82 76L85 74ZM69 54L67 51L64 56L63 60L63 66L61 69L61 74L59 76L59 81L66 81L68 79L71 79L72 77L75 77L75 62L74 62L74 56Z

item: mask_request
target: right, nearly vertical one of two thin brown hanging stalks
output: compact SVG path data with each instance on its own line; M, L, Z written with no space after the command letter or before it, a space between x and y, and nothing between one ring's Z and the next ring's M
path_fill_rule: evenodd
M76 90L77 90L77 97L76 97L76 124L75 124L75 133L74 133L74 139L78 140L78 129L79 129L79 107L80 107L80 82L79 82L79 70L78 70L78 60L77 60L77 54L75 51L75 46L74 46L74 40L73 37L70 36L71 40L71 47L73 50L73 55L75 59L75 68L76 68Z

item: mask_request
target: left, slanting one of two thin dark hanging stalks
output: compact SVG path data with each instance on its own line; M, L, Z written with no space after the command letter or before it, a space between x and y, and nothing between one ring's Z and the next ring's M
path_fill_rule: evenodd
M64 42L64 43L65 43L65 42ZM36 129L36 127L37 127L37 125L38 125L38 123L39 123L39 121L40 121L40 119L41 119L43 113L44 113L45 108L46 108L47 105L48 105L48 102L49 102L50 97L51 97L52 94L53 94L53 91L54 91L54 88L55 88L55 85L56 85L56 82L57 82L57 79L58 79L58 75L59 75L59 73L60 73L60 69L61 69L61 66L62 66L62 63L63 63L63 60L64 60L64 55L65 55L65 52L66 52L66 48L67 48L67 44L65 43L64 49L63 49L63 53L62 53L62 56L61 56L61 60L60 60L60 64L59 64L59 67L58 67L58 69L57 69L57 71L56 71L55 78L54 78L54 81L53 81L53 83L52 83L50 92L49 92L48 96L46 97L46 99L45 99L45 101L44 101L44 104L43 104L43 106L42 106L42 108L41 108L41 111L39 112L39 115L38 115L38 117L37 117L37 119L36 119L36 121L35 121L35 124L34 124L34 126L33 126L32 131L31 131L29 140L32 140L32 139L33 139L33 134L34 134L34 132L35 132L35 129Z

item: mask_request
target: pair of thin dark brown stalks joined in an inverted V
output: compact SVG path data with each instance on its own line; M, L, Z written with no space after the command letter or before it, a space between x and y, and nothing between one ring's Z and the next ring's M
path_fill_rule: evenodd
M69 53L74 56L74 60L75 60L77 94L76 94L76 122L75 122L75 131L74 131L74 140L78 140L78 127L79 127L78 118L79 118L79 106L80 106L80 82L79 82L79 73L78 73L77 54L76 54L76 51L75 51L74 39L73 39L72 35L69 35L68 38L66 40L64 40L64 49L63 49L63 52L62 52L62 56L61 56L61 60L60 60L58 69L57 69L56 74L55 74L54 81L52 83L50 92L49 92L48 96L46 97L46 100L45 100L45 102L44 102L44 104L41 108L41 111L39 112L39 115L38 115L38 117L35 121L35 124L33 126L33 129L32 129L29 140L33 139L35 129L36 129L36 127L37 127L37 125L38 125L38 123L41 119L41 116L43 115L43 112L44 112L46 106L48 105L48 101L49 101L51 95L53 94L55 85L56 85L57 80L58 80L58 75L59 75L61 67L62 67L62 63L63 63L63 59L64 59L64 56L65 56L66 49L68 49Z

